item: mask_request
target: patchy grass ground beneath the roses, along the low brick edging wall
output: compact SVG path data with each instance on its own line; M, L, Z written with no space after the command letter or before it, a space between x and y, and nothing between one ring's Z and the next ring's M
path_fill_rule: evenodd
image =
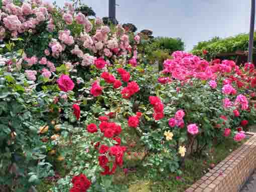
M166 175L165 178L150 180L147 178L147 169L143 167L141 158L144 155L141 146L134 146L130 155L126 155L124 162L127 167L136 167L136 171L131 171L126 175L122 170L116 172L113 184L124 184L129 187L129 192L184 192L190 185L201 178L213 165L218 164L230 152L237 149L245 141L237 143L233 139L226 139L223 143L213 146L204 151L201 157L189 157L186 159L185 168L180 179L176 179L176 174ZM58 167L60 168L60 167ZM63 170L63 168L60 168ZM62 175L63 176L63 175ZM39 192L49 192L53 183L44 181L37 187Z

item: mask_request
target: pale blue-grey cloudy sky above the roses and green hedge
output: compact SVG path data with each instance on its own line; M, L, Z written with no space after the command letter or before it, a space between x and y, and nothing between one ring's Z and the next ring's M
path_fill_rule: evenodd
M51 0L54 1L54 0ZM63 5L63 0L56 0ZM81 0L97 17L108 16L108 0ZM116 19L153 36L181 38L189 51L200 41L248 33L249 0L116 0Z

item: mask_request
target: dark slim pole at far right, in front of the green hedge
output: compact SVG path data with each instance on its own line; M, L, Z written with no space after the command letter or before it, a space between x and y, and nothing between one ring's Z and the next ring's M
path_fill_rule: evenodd
M255 23L255 0L251 0L251 11L250 11L250 34L249 34L249 53L248 62L252 63L253 55L253 37L254 37L254 23Z

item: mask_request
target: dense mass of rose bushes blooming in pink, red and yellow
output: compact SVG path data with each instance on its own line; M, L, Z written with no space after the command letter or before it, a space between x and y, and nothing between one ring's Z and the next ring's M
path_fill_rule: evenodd
M112 179L129 137L141 138L143 164L158 178L180 174L188 154L227 136L242 140L255 123L253 65L178 51L156 74L137 50L143 37L89 20L76 6L3 1L0 142L8 161L0 162L9 180L0 185L7 190L33 188L56 161L66 175L52 191L125 190Z

